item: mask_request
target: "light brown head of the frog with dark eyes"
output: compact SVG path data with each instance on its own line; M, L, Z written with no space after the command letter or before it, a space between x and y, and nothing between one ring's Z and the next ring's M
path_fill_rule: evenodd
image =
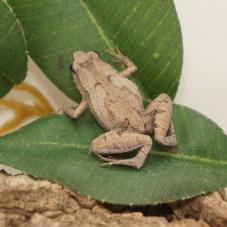
M89 68L97 59L99 59L99 55L95 51L76 51L73 54L73 63L70 65L70 70L76 73L81 67Z

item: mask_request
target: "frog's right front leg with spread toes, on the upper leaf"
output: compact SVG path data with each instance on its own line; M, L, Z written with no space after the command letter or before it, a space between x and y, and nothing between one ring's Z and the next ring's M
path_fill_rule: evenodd
M123 55L118 48L116 48L116 51L116 54L109 54L115 58L116 62L125 65L126 67L126 69L120 72L119 75L123 77L131 76L137 70L136 65L127 56Z

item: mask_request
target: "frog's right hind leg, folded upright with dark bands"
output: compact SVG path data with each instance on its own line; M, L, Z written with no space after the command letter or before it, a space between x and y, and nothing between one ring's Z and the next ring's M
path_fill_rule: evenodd
M172 100L167 94L160 94L145 110L145 125L148 132L154 133L155 140L166 146L178 144L172 116Z

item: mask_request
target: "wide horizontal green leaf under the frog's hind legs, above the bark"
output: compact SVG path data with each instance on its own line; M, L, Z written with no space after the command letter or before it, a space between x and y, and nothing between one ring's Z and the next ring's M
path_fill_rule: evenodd
M201 114L175 106L177 154L154 146L140 170L102 167L89 153L103 132L90 113L46 118L0 139L1 163L69 186L100 201L157 204L227 185L227 137ZM88 130L89 129L89 130Z

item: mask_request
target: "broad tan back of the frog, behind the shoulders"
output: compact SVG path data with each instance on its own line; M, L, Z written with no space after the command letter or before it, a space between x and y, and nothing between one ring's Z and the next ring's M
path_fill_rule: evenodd
M97 84L90 109L106 129L133 129L144 132L143 104L138 88L117 74ZM98 101L97 101L98 100Z

